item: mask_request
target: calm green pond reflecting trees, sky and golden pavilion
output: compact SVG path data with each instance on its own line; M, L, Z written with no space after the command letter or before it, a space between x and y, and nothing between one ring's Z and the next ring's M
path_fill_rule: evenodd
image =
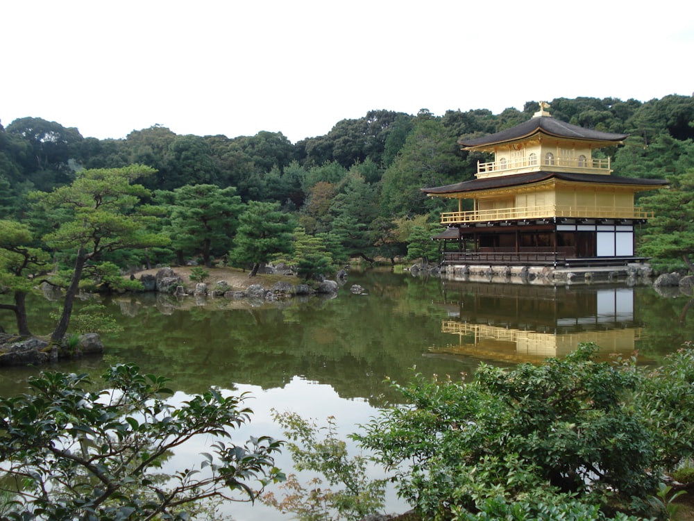
M365 294L351 293L353 284ZM455 377L473 373L480 362L539 363L591 340L606 357L638 350L641 363L658 363L694 340L694 317L687 314L691 300L677 292L458 283L390 270L351 272L335 298L297 297L256 306L133 294L103 303L123 331L102 336L103 357L56 369L96 376L108 365L134 362L173 379L176 399L209 386L248 391L254 415L250 427L234 436L238 442L248 434L281 438L271 420L273 408L318 422L334 415L346 435L368 422L379 406L398 399L384 384L386 377L405 383L413 370ZM49 330L47 317L56 306L45 299L31 302L37 333ZM0 311L0 324L9 320ZM0 395L22 392L26 377L35 372L0 369ZM288 457L280 461L284 469L290 464ZM392 496L387 511L402 511ZM285 518L262 505L235 504L230 512L239 521Z

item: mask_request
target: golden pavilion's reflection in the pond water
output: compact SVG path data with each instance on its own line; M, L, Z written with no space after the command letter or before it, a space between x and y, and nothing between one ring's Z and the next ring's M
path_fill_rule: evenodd
M600 358L627 358L642 331L634 289L626 287L446 283L438 304L448 310L443 333L458 341L430 353L490 362L539 363L566 356L580 342L598 344Z

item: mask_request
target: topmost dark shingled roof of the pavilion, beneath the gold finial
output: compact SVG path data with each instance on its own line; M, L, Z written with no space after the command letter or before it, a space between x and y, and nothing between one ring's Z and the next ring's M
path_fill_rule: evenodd
M489 144L498 144L507 141L515 141L527 138L536 133L554 135L558 138L570 138L586 141L604 141L618 143L628 137L629 134L613 134L609 132L599 132L591 129L584 129L581 126L572 125L555 119L551 116L538 116L528 119L511 129L502 130L496 134L485 135L482 138L461 139L458 141L464 147L483 147Z

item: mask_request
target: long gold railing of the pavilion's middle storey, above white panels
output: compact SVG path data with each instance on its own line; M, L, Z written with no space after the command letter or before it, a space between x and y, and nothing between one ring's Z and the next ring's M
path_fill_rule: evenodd
M526 219L551 219L552 217L575 217L583 219L651 219L653 212L636 207L615 206L519 206L495 208L493 210L471 210L467 212L441 213L441 224L467 222L491 222Z

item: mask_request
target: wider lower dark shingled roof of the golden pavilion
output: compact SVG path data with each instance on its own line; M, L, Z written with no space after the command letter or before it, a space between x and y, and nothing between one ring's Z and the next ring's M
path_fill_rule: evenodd
M530 172L528 174L515 174L511 176L485 177L452 185L421 188L421 190L428 195L457 194L460 192L477 192L478 190L491 190L493 188L508 188L511 186L539 183L552 178L561 179L562 181L574 181L577 183L636 185L652 188L658 188L659 186L666 186L668 184L668 181L664 179L637 179L634 177L618 177L600 174L569 174L564 172Z

